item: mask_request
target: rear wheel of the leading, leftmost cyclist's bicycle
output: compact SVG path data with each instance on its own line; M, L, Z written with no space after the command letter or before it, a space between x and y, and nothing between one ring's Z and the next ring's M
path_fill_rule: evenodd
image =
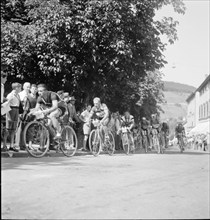
M65 125L61 131L60 149L67 157L72 157L77 151L78 139L74 129Z

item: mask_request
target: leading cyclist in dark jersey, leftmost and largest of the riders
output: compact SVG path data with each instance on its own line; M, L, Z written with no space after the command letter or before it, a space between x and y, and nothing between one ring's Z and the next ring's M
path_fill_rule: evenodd
M61 138L61 126L58 122L58 117L62 116L65 113L65 108L58 106L59 97L55 92L48 91L45 84L39 84L37 86L39 97L37 99L37 104L33 114L36 114L37 111L40 111L40 108L44 110L42 113L48 115L48 123L53 125L56 130L56 136L54 139Z

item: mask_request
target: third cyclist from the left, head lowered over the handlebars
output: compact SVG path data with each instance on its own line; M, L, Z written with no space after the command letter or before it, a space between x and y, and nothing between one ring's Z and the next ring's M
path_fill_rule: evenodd
M121 118L121 127L127 127L130 133L130 147L131 151L134 151L134 138L133 138L133 128L135 122L133 115L130 114L129 111L125 111L123 117Z

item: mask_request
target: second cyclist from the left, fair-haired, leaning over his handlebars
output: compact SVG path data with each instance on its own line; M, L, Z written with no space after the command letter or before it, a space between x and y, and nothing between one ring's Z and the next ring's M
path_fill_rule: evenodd
M95 97L93 99L94 106L92 107L89 115L89 120L99 119L100 120L100 136L103 137L102 133L105 133L105 141L108 139L108 123L110 121L110 113L106 104L101 103L100 98Z

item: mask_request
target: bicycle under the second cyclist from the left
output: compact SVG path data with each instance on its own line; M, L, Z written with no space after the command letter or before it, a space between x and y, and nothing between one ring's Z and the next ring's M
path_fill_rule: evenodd
M112 132L108 131L108 137L105 137L105 140L100 135L100 120L92 120L92 124L95 127L90 132L89 136L89 148L91 153L96 157L100 154L101 151L107 152L110 156L114 154L115 151L115 140Z

